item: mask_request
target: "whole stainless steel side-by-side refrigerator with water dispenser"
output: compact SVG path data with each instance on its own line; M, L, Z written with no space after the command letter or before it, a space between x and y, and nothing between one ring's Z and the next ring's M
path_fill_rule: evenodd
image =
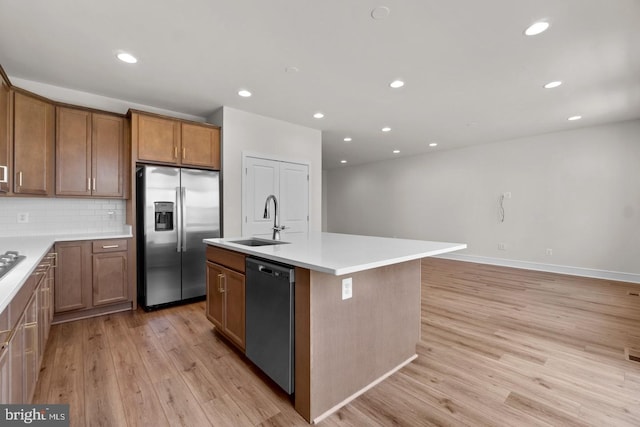
M220 237L219 172L136 171L138 302L145 309L206 295L205 244Z

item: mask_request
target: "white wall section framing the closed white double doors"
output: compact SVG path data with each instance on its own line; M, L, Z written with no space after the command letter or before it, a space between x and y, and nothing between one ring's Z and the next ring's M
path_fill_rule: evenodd
M309 230L322 228L321 132L223 107L209 121L222 127L223 235L242 232L242 154L309 163Z

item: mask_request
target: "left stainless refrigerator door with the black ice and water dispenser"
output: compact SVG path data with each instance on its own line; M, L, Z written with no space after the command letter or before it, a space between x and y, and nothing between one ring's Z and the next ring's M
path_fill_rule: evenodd
M145 224L145 306L154 306L181 299L180 271L180 170L162 166L146 166L144 171ZM160 210L173 204L172 224ZM163 226L156 226L164 221ZM204 262L203 262L204 264Z

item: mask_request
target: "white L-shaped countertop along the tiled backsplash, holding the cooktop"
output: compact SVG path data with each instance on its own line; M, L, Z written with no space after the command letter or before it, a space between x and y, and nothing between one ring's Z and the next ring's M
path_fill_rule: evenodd
M120 232L64 234L29 237L0 237L0 254L6 251L18 251L26 258L20 261L11 271L0 278L0 312L2 312L31 273L36 269L47 251L56 242L75 240L123 239L133 237L131 227L126 226Z

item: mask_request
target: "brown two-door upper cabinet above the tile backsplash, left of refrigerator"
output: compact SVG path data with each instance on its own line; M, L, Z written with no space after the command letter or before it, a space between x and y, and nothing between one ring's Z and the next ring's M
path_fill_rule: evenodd
M56 108L56 195L125 197L125 119Z

